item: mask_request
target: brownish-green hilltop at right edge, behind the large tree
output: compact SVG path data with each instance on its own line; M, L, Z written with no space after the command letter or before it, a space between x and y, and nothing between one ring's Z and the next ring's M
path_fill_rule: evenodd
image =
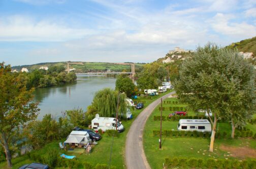
M252 52L253 55L256 55L256 36L250 39L244 39L237 43L232 43L227 48L235 49L237 48L239 52Z

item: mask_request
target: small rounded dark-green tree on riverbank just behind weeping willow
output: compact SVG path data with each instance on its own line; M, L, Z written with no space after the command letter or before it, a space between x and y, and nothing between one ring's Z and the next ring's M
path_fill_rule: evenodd
M124 92L128 97L132 96L134 92L135 85L131 78L123 75L119 75L116 79L116 90L119 92Z

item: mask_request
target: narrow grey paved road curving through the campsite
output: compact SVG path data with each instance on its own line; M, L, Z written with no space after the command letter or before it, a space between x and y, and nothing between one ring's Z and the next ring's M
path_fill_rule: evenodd
M174 93L163 96L163 100ZM161 98L148 105L134 120L126 135L125 160L128 169L150 168L143 149L143 130L149 115L159 103L161 103Z

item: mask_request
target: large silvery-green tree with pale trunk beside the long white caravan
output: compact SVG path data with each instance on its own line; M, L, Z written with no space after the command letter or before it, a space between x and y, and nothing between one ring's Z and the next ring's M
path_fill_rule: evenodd
M232 66L233 60L241 61L234 51L210 43L204 48L199 47L194 57L183 61L179 70L180 79L174 84L181 101L188 103L193 109L205 109L208 113L212 111L213 117L209 116L212 123L211 152L217 120L230 114L231 97L235 93L231 92L234 88L232 79L238 78L234 73L238 69ZM243 76L245 72L239 73Z

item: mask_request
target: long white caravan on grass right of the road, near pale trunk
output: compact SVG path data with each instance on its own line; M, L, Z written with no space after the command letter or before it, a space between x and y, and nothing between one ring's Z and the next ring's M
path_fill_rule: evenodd
M207 119L180 119L178 130L211 132L211 123Z

